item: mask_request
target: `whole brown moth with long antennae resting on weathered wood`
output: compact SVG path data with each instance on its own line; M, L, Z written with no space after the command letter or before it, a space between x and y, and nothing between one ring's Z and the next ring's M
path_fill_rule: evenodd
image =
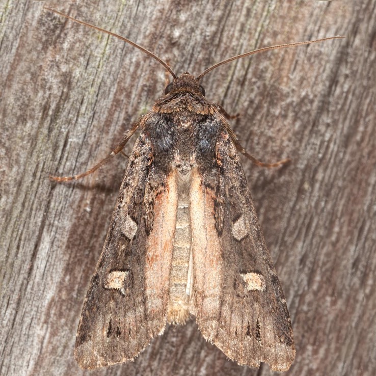
M104 32L159 61L173 81L109 157L84 174L51 177L67 181L92 173L141 130L79 321L79 366L133 360L167 324L195 316L203 337L231 360L286 371L296 354L291 320L238 152L260 166L287 160L262 164L249 155L230 116L205 98L199 83L219 65L260 50L197 77L177 76L154 53Z

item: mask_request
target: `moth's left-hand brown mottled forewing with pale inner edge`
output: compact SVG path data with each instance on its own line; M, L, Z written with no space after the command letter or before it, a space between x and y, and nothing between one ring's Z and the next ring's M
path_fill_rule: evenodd
M166 326L177 190L154 141L144 130L128 162L78 326L82 368L133 359Z

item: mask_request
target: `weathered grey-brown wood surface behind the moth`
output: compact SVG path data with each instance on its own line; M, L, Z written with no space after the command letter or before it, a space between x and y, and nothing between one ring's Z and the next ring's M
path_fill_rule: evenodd
M226 360L194 321L134 363L78 368L78 318L127 162L119 155L72 184L47 176L83 172L108 154L163 94L165 70L43 4L141 43L178 73L257 47L346 36L234 62L202 84L240 114L232 126L249 152L292 158L277 170L244 159L296 337L286 374L375 374L374 0L3 1L0 374L270 374Z

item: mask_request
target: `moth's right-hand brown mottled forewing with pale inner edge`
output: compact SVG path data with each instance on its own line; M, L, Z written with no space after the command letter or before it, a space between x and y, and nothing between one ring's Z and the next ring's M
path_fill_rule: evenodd
M239 364L287 370L291 322L239 155L222 123L192 177L193 308L203 336ZM208 166L210 164L210 166Z

